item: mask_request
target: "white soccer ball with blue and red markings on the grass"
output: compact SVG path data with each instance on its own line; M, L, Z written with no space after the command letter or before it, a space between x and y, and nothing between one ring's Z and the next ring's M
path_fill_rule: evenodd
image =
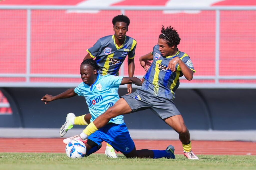
M71 140L66 146L66 154L69 158L83 158L86 154L86 147L80 140Z

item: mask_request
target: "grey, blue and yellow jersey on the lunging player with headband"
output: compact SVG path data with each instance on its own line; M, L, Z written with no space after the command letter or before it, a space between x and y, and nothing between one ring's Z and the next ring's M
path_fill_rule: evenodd
M175 72L169 69L166 70L168 63L173 58L179 57L189 69L196 72L192 61L186 53L179 50L173 56L163 57L158 45L154 46L152 54L152 65L144 75L144 82L141 88L158 97L175 99L175 90L179 87L179 77L183 76L183 74L178 64L176 64Z

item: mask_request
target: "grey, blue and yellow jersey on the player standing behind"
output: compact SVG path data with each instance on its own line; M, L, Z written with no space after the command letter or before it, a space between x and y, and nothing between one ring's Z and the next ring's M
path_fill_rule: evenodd
M126 56L128 55L129 59L133 59L135 56L136 40L125 36L124 43L118 47L115 43L114 36L102 37L93 47L86 50L92 58L95 58L98 66L105 68L103 71L99 71L101 75L118 75L118 71Z

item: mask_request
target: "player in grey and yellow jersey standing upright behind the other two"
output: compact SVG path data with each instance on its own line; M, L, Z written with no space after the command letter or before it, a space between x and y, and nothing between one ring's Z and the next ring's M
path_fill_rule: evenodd
M115 34L100 38L91 48L86 50L88 54L83 60L95 59L97 65L104 68L103 70L98 70L98 73L101 75L119 75L119 69L127 57L128 75L129 77L133 77L135 68L134 56L137 42L133 38L126 36L130 20L125 15L117 15L112 19L112 23ZM132 93L131 84L127 84L127 92L128 94ZM68 129L73 127L69 120L74 116L73 113L68 114L65 124L60 128L60 136L64 136ZM88 123L90 123L90 113L82 116L84 121L74 122L75 125L88 125ZM105 154L111 158L117 157L113 147L108 143Z

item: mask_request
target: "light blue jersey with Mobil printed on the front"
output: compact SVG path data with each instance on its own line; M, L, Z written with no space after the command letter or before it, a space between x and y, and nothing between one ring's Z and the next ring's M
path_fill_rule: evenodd
M78 96L83 96L86 99L92 116L91 122L119 100L118 88L122 79L123 76L98 74L96 81L91 86L82 82L74 89ZM116 116L109 123L122 124L124 123L123 117L123 115Z

